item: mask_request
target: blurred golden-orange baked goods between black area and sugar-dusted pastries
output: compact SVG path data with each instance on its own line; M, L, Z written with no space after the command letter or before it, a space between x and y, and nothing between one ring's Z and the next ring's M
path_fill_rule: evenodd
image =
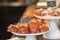
M26 9L26 11L24 12L22 18L27 17L27 16L29 16L31 18L34 17L34 13L35 13L34 11L35 11L35 9L36 9L36 5L30 5L30 6L28 6L27 9Z

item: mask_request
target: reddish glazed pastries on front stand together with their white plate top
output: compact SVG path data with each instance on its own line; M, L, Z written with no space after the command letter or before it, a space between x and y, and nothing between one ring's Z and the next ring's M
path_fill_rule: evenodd
M32 19L28 23L17 23L10 24L8 26L8 31L16 35L39 35L46 33L50 30L45 24L41 24L41 21L38 19Z

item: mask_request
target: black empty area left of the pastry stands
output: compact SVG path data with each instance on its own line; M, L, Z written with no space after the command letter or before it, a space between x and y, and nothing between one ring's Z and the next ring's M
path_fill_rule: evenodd
M17 23L21 18L26 6L2 7L0 6L0 40L9 39L12 34L7 32L9 24Z

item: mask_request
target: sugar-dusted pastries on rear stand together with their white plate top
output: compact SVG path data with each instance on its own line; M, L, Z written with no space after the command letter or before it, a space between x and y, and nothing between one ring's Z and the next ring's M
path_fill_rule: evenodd
M42 19L60 19L60 8L49 7L47 9L37 9L35 17Z

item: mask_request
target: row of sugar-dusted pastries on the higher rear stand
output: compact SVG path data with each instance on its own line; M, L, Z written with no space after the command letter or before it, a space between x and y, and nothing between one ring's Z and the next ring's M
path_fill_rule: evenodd
M42 10L42 9L38 9L36 11L36 15L39 15L39 16L60 16L60 8L54 8L54 7L49 7L45 10Z

